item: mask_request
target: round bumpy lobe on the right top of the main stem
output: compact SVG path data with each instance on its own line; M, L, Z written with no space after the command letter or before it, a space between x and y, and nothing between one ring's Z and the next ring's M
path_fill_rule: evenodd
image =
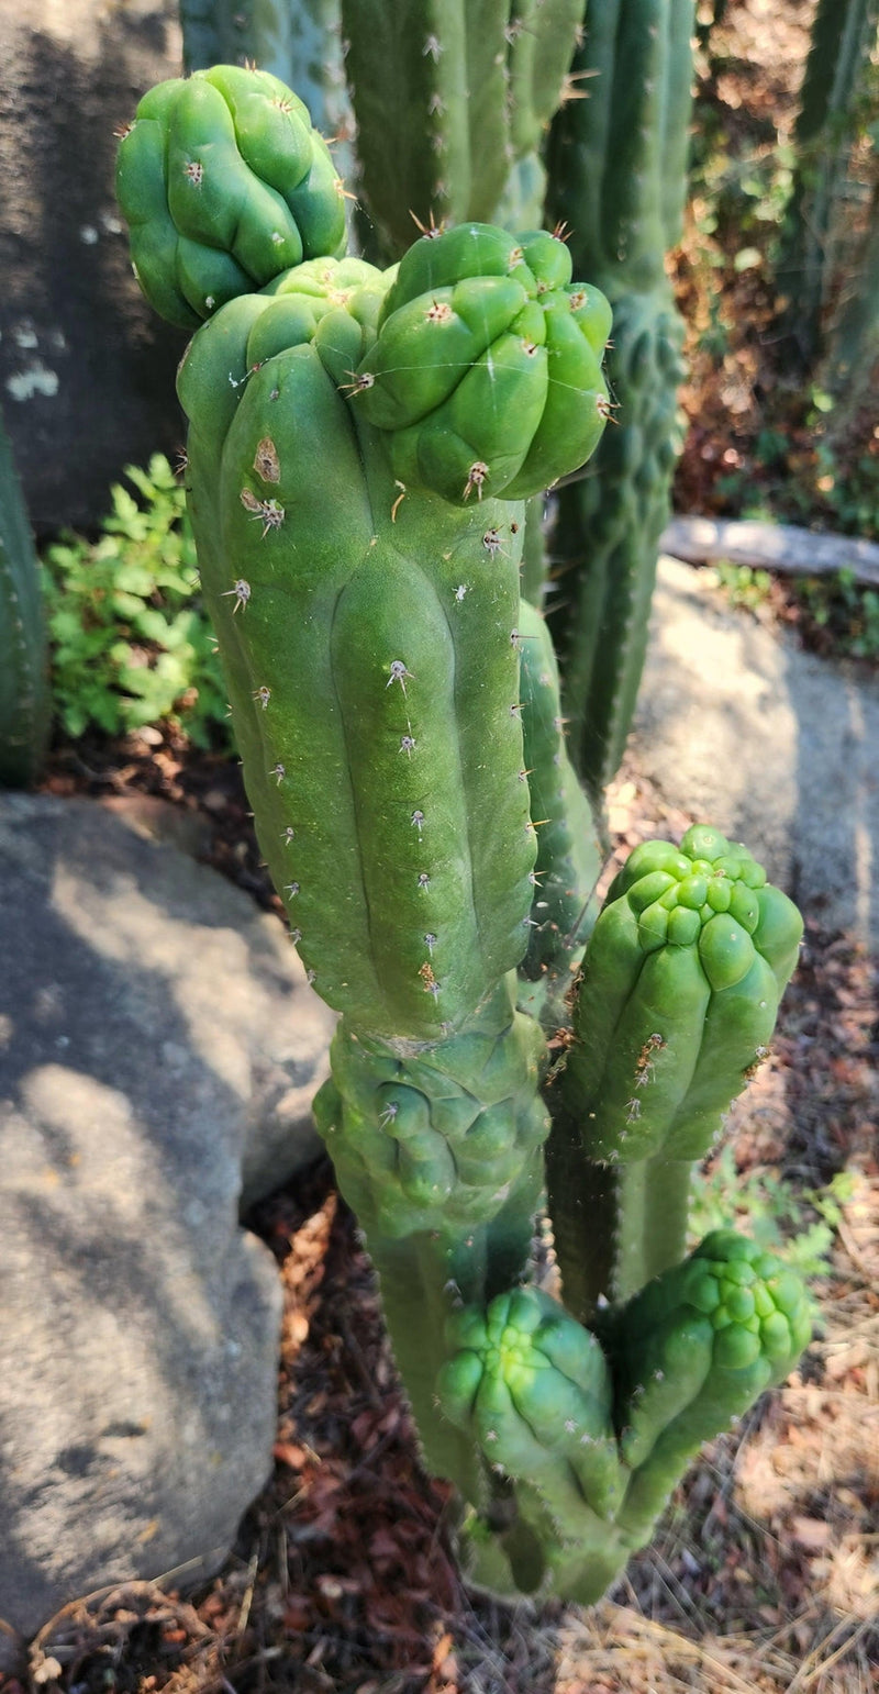
M359 366L395 476L457 505L523 500L594 451L610 312L562 241L466 224L410 247Z

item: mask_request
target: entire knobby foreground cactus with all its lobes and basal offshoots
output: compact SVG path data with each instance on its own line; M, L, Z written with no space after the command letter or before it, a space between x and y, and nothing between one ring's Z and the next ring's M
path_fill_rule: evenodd
M300 164L296 229L330 237L288 266L291 193L252 134L301 161L301 112L273 78L237 75L251 93L235 83L232 102L229 71L210 85L235 110L234 217L225 119L220 146L139 141L186 110L190 85L147 95L119 181L129 220L151 207L164 232L151 298L178 310L183 295L207 318L178 385L188 500L259 842L308 977L342 1013L315 1115L425 1462L459 1489L466 1569L503 1592L593 1599L698 1443L791 1369L808 1326L796 1279L735 1235L683 1262L683 1240L664 1240L647 1281L652 1194L632 1176L600 1201L635 1243L625 1277L608 1259L578 1289L571 1269L586 1328L533 1269L545 1101L566 1167L689 1167L769 1038L798 916L703 830L681 852L640 849L596 922L600 850L520 564L527 498L601 437L606 302L544 230L432 230L386 273L339 257L322 171L312 210ZM240 112L261 112L249 137ZM224 305L212 290L210 307L229 230L251 263L244 229L259 264L286 230L276 271L259 291L229 285ZM554 1081L542 1023L569 1047ZM623 1096L640 1084L628 1149ZM562 1230L566 1281L598 1226L574 1215L584 1193Z

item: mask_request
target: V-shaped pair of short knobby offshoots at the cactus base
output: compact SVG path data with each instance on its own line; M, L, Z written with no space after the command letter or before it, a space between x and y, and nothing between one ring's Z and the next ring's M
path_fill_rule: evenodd
M650 1538L701 1443L784 1381L810 1316L793 1272L716 1232L596 1333L535 1289L466 1308L447 1333L442 1409L511 1481L542 1562L532 1586L591 1604ZM478 1528L474 1511L476 1574Z

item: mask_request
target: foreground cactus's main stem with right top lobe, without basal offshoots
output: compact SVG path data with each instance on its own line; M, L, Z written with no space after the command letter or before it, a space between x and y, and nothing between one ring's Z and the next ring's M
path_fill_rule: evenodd
M391 278L327 257L230 302L178 385L259 842L310 979L344 1013L318 1127L425 1459L471 1497L481 1462L434 1406L444 1320L452 1293L486 1299L523 1272L549 1123L542 1035L513 1010L539 849L523 501L506 496L600 429L598 322L562 242L466 225ZM547 340L579 418L569 388L556 407Z

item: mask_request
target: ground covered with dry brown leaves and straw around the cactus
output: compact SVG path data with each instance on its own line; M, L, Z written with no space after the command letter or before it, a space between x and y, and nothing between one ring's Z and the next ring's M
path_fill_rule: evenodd
M772 124L789 129L811 5L791 0L782 14L772 0L730 0L720 56L703 68L706 98L730 130L764 124L766 158ZM711 266L725 302L716 322ZM766 273L737 271L696 208L677 285L693 359L677 500L681 510L730 512L742 488L772 481L755 446ZM806 459L813 452L804 424L791 425L791 442ZM161 796L210 862L279 910L237 771L174 732L61 745L46 786L122 806ZM664 808L632 759L608 806L616 855L655 833L677 839L691 822ZM877 1121L876 960L808 925L772 1055L737 1104L713 1169L745 1223L813 1230L815 1340L784 1387L705 1450L652 1548L588 1613L464 1592L447 1489L420 1469L369 1262L330 1167L318 1164L249 1220L276 1254L286 1306L274 1475L234 1555L185 1599L132 1584L69 1606L34 1643L32 1684L49 1694L879 1687ZM830 1187L838 1172L847 1182ZM710 1169L705 1206L716 1191ZM0 1677L0 1694L20 1694L19 1684Z

